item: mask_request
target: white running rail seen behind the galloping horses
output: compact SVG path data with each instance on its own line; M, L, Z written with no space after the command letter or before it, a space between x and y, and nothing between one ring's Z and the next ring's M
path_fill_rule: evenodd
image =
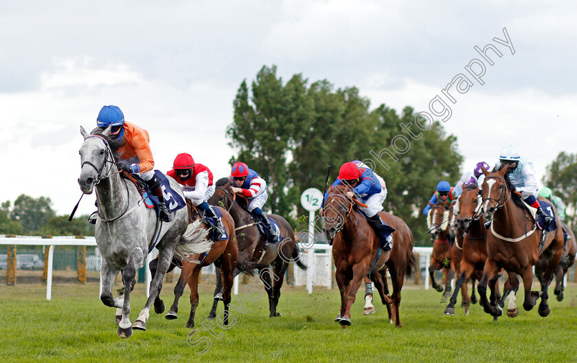
M77 239L74 236L55 236L52 239L43 239L40 236L17 236L14 238L0 237L0 245L43 245L49 248L48 265L47 265L47 281L46 281L46 299L52 298L52 267L54 261L54 247L61 245L86 245L96 246L94 237L84 237L84 239ZM304 243L300 243L300 248L304 251L301 256L302 262L308 266L306 271L301 270L295 266L293 269L293 276L295 285L306 285L309 294L313 292L313 286L326 286L328 289L332 288L332 272L334 270L332 264L332 246L326 244L314 244L312 248L306 248ZM431 261L431 253L433 248L417 247L414 252L420 254L419 267L425 265L429 267ZM146 259L146 266L157 256L157 250L148 254ZM313 261L313 263L310 263ZM100 270L94 266L95 270ZM425 270L427 271L427 270ZM203 272L214 274L214 268L205 267ZM420 273L417 272L417 273ZM149 295L150 289L150 270L146 268L146 296ZM425 289L429 289L429 274L425 274ZM100 292L102 292L102 278L100 279ZM234 279L234 294L238 294L238 276Z

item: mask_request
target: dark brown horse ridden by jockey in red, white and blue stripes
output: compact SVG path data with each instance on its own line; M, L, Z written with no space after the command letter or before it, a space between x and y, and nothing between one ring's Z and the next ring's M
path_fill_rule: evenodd
M278 243L267 243L267 237L258 230L258 222L245 209L248 206L247 199L234 193L231 185L232 181L229 177L216 181L214 195L210 197L208 203L224 208L234 219L238 240L238 267L234 276L240 272L253 275L253 270L258 269L258 276L264 283L264 289L269 296L269 317L281 316L277 307L288 263L293 260L299 267L306 270L306 266L299 261L299 247L295 242L293 228L283 217L277 214L267 214L278 223L280 234L284 236L284 239ZM270 265L273 266L272 272ZM209 318L216 316L219 300L216 298L217 295L215 290L215 299Z

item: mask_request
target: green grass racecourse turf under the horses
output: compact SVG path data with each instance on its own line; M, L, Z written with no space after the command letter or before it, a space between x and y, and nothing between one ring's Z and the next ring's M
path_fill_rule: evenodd
M464 316L442 314L440 293L414 286L403 291L401 321L395 329L386 309L363 316L363 296L353 305L352 326L343 330L333 321L339 309L336 289L283 287L279 311L268 318L268 301L244 297L245 314L234 311L236 324L228 330L213 325L214 338L202 323L210 309L210 287L203 286L197 314L200 338L207 344L191 347L185 327L190 311L188 289L180 302L178 320L152 312L148 331L135 331L129 339L116 335L114 309L98 298L98 284L54 285L52 301L45 300L45 285L0 286L0 362L577 362L577 286L565 290L561 303L550 300L552 312L541 318L536 308L519 317L498 322L471 306ZM259 290L260 291L260 290ZM552 290L550 290L552 292ZM172 286L165 284L163 298L172 303ZM170 301L169 301L170 300ZM517 303L522 304L517 293ZM459 299L460 301L460 299ZM133 321L144 306L144 287L133 292ZM233 296L233 304L239 298ZM222 308L220 308L222 309Z

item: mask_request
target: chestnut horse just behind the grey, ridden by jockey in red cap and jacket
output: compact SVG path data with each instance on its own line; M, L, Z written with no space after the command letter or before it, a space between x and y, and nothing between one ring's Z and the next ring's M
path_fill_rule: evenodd
M210 251L206 252L206 254L190 253L186 245L184 245L182 249L180 246L177 246L174 252L174 260L176 261L173 261L171 267L181 267L182 270L179 281L177 285L174 286L174 303L172 303L165 318L168 320L178 318L179 299L184 292L185 285L188 284L188 287L190 287L190 317L186 323L187 328L194 327L194 316L196 314L196 308L199 306L199 274L203 267L212 263L214 263L215 267L218 267L216 272L221 274L220 278L221 281L223 281L223 303L225 305L223 325L228 325L231 290L235 276L234 270L236 270L238 265L238 245L236 243L234 220L231 215L223 208L215 208L218 208L220 212L223 213L222 221L228 238L213 241ZM205 231L203 239L209 239L210 236L207 235L208 227L204 223L201 223L199 212L196 208L192 207L192 204L188 200L187 209L191 226L195 224L201 225L201 228ZM153 264L155 261L156 260L150 262L150 272L152 272L152 276L155 276L156 272L156 265ZM157 314L161 314L164 311L164 303L160 297L155 300L155 311Z

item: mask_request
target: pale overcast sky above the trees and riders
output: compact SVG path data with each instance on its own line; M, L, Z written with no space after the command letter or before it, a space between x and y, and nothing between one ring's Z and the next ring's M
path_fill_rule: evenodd
M356 86L372 108L398 112L429 111L464 74L473 86L449 91L456 103L444 124L462 171L493 164L512 143L541 179L559 152L576 152L575 19L568 1L5 1L0 201L45 196L69 214L81 194L80 125L92 129L104 104L148 130L155 168L187 152L228 175L232 101L263 65L284 80ZM493 41L506 40L504 28L514 54ZM488 44L502 56L488 51L494 65L485 61L480 85L465 66Z

